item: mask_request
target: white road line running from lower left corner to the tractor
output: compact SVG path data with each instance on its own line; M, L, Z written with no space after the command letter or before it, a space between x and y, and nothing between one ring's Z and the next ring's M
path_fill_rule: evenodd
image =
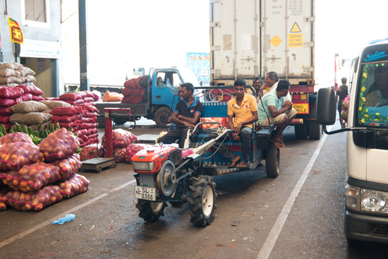
M124 188L128 185L130 185L131 183L134 183L136 180L133 180L133 181L128 181L128 183L124 183L123 185L117 187L117 188L114 188L111 190L112 191L117 191L117 190L120 190L121 188ZM0 248L2 248L3 246L6 246L8 245L9 243L12 243L13 241L16 241L18 239L21 239L23 236L27 236L28 234L31 234L33 231L36 231L38 229L41 229L42 227L48 225L48 224L51 224L51 222L53 222L54 220L57 220L59 219L60 217L64 217L66 216L66 214L69 214L71 212L75 212L76 210L79 210L87 205L90 205L92 203L94 203L95 201L101 199L101 198L104 198L105 196L107 196L108 193L103 193L102 195L99 195L97 196L96 198L92 198L92 200L88 200L86 203L83 203L83 204L80 204L76 207L73 207L71 208L70 210L67 210L66 212L62 212L61 214L59 215L56 215L55 217L52 217L51 219L48 219L44 222L42 222L41 224L35 226L35 227L32 227L31 229L28 229L27 231L23 231L23 233L20 233L20 234L17 234L16 236L13 236L11 237L11 239L7 239L6 241L3 241L0 243Z

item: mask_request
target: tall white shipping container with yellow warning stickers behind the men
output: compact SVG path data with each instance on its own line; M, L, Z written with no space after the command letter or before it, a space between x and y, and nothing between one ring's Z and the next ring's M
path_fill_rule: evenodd
M314 0L210 0L211 80L314 85L314 13Z

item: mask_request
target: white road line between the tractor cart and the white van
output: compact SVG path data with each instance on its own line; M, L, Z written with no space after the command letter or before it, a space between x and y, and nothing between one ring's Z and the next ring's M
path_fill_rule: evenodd
M331 128L332 126L327 127L327 131L330 131ZM305 179L307 179L307 176L310 173L310 170L313 167L315 160L320 154L320 150L322 149L322 145L323 143L325 143L326 138L327 138L327 134L323 135L322 139L320 140L320 143L317 146L317 149L313 154L313 157L311 157L310 162L308 162L307 167L305 167L305 171L303 171L301 178L299 179L298 183L296 183L296 186L293 188L293 191L291 192L288 200L286 201L286 204L284 204L283 209L281 210L279 216L277 217L277 221L275 222L271 231L269 231L267 239L262 245L262 248L260 249L260 253L257 255L257 259L267 259L271 254L272 248L274 248L274 244L277 241L277 237L279 236L281 229L283 228L284 223L286 222L286 219L289 216L291 207L293 206L293 203L295 202L295 199L298 196L299 191L301 191L303 183L305 183Z

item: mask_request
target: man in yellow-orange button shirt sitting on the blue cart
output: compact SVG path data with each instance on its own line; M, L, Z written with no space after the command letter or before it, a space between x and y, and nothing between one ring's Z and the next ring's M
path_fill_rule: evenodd
M230 167L249 167L250 135L253 132L253 122L257 121L257 105L255 97L245 95L246 82L243 79L234 81L234 92L236 97L228 102L228 126L234 133L231 138L241 141L241 155L243 159L239 164L240 157L229 148L225 147L221 141L214 145L219 148L217 152L231 161ZM233 122L233 116L234 122ZM209 138L215 138L217 135L210 134Z

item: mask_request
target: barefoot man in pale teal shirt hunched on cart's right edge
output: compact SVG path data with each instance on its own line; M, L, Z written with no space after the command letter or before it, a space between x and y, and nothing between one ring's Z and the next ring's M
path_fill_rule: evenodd
M269 141L277 147L284 148L283 137L284 128L291 124L296 116L296 110L292 107L292 102L284 100L289 94L290 83L288 80L280 80L275 91L269 91L257 104L260 125L277 124L277 128Z

